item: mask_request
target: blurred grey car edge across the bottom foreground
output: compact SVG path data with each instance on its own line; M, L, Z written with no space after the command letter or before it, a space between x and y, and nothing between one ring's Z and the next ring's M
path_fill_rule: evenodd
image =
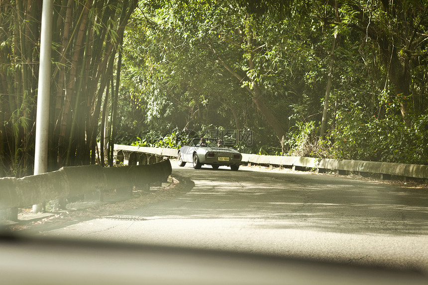
M1 284L427 284L418 272L265 255L3 235Z

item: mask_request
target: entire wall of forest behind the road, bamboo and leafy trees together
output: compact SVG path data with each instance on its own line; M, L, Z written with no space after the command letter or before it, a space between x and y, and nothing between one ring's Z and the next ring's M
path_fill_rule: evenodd
M0 1L0 176L32 172L41 5ZM251 131L236 146L253 153L428 164L427 8L54 0L49 168L211 130Z

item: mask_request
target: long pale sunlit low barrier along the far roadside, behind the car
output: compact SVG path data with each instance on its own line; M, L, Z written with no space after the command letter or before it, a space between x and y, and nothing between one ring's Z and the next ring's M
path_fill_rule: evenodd
M132 152L145 152L152 154L161 154L169 157L177 157L176 149L135 147L123 145L114 145L114 149L115 151L122 151L124 153L127 153L128 156ZM295 156L271 156L245 153L242 154L242 162L261 165L278 165L289 167L292 169L310 168L320 173L326 171L334 171L339 174L346 174L346 172L358 172L380 174L382 179L390 179L391 176L401 176L428 180L428 165L371 162L359 160L337 160L324 158L319 159Z

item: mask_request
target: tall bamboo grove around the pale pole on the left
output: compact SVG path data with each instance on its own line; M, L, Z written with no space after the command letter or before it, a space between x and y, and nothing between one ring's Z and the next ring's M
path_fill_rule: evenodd
M0 1L0 177L32 173L42 2ZM136 4L54 0L49 170L96 163L97 153L104 162L104 141L112 162L121 42Z

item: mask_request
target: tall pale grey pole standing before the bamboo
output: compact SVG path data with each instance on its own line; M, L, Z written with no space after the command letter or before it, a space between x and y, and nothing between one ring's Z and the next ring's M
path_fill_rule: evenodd
M53 0L43 0L40 33L40 65L37 87L36 144L34 175L47 172L49 138L49 97L51 84ZM33 213L41 212L43 204L33 205Z

